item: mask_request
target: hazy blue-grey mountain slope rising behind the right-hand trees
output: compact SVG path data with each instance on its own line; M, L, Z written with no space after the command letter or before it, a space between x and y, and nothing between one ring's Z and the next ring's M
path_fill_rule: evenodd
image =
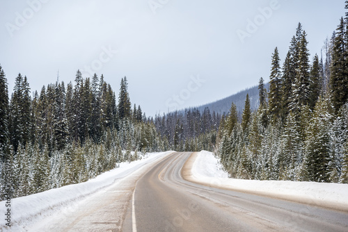
M268 89L268 83L264 85L265 88ZM230 97L226 97L224 99L214 101L212 103L207 103L203 106L198 106L198 109L200 112L203 112L205 108L209 108L210 112L215 111L216 113L220 113L221 115L223 113L228 114L231 108L232 102L235 103L237 106L237 110L239 114L243 112L244 109L244 103L246 99L246 94L249 94L250 99L250 105L251 110L257 110L259 106L259 90L258 85L248 88L246 90L242 90L240 92L237 92L237 94L233 94Z

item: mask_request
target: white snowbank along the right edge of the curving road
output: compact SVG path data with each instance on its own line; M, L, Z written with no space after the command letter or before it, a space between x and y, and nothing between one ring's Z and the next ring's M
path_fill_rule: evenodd
M200 183L242 192L261 194L304 204L348 211L348 185L299 181L251 181L228 179L219 160L209 151L200 151L192 167Z

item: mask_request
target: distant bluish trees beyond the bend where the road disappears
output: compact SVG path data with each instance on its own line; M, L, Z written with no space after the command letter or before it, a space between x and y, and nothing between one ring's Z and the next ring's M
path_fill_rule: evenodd
M216 133L221 122L219 113L203 112L198 108L167 113L155 117L155 126L165 147L175 151L213 151L216 144Z

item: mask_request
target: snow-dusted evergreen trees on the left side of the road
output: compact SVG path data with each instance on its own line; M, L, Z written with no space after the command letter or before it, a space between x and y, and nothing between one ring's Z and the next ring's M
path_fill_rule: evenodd
M84 79L77 71L74 82L65 87L57 81L31 97L26 76L19 74L9 97L0 67L1 199L8 191L21 197L87 181L140 158L139 152L165 149L141 107L132 110L126 77L118 103L103 76ZM10 190L3 189L5 182Z

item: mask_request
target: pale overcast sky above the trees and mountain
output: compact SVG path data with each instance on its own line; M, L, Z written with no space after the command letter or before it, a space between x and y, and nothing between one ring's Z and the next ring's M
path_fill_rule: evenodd
M104 74L132 104L167 113L228 97L269 79L301 22L312 60L345 14L344 0L0 0L0 64L13 91Z

